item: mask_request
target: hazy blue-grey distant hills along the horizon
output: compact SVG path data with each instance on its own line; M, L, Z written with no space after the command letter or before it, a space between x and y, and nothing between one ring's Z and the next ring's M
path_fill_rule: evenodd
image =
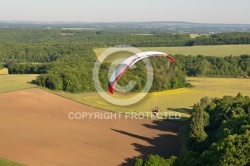
M41 22L41 21L0 21L0 29L25 28L92 28L101 31L131 33L224 33L250 32L250 24L211 24L177 21L152 22Z

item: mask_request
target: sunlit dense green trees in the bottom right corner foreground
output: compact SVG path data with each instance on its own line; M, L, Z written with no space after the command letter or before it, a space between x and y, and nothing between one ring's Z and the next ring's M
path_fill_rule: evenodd
M193 106L190 122L182 129L185 147L179 157L149 155L137 158L135 166L249 165L249 124L249 96L204 97Z

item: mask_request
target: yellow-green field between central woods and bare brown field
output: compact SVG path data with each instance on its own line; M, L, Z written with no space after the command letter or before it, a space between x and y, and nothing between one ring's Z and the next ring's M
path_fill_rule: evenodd
M180 112L183 119L190 116L190 111L194 103L199 102L202 97L222 97L224 95L236 96L238 92L250 96L250 79L237 78L187 78L194 88L182 88L164 92L150 93L139 103L132 106L119 107L106 102L98 93L72 94L66 92L54 92L57 95L71 100L84 103L103 110L114 112L150 112L158 106L162 112ZM128 98L135 94L115 93L115 98Z

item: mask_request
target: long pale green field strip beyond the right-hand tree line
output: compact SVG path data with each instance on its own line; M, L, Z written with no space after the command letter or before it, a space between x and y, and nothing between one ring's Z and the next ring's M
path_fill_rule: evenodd
M95 53L99 56L107 48L95 49ZM218 45L218 46L190 46L190 47L142 47L141 51L161 51L170 55L204 55L204 56L240 56L242 54L250 54L250 45Z

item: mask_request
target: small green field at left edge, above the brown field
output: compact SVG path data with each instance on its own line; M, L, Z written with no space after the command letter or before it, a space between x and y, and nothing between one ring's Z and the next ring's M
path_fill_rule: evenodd
M31 83L37 76L36 74L8 75L7 69L2 69L0 70L0 93L37 87Z

